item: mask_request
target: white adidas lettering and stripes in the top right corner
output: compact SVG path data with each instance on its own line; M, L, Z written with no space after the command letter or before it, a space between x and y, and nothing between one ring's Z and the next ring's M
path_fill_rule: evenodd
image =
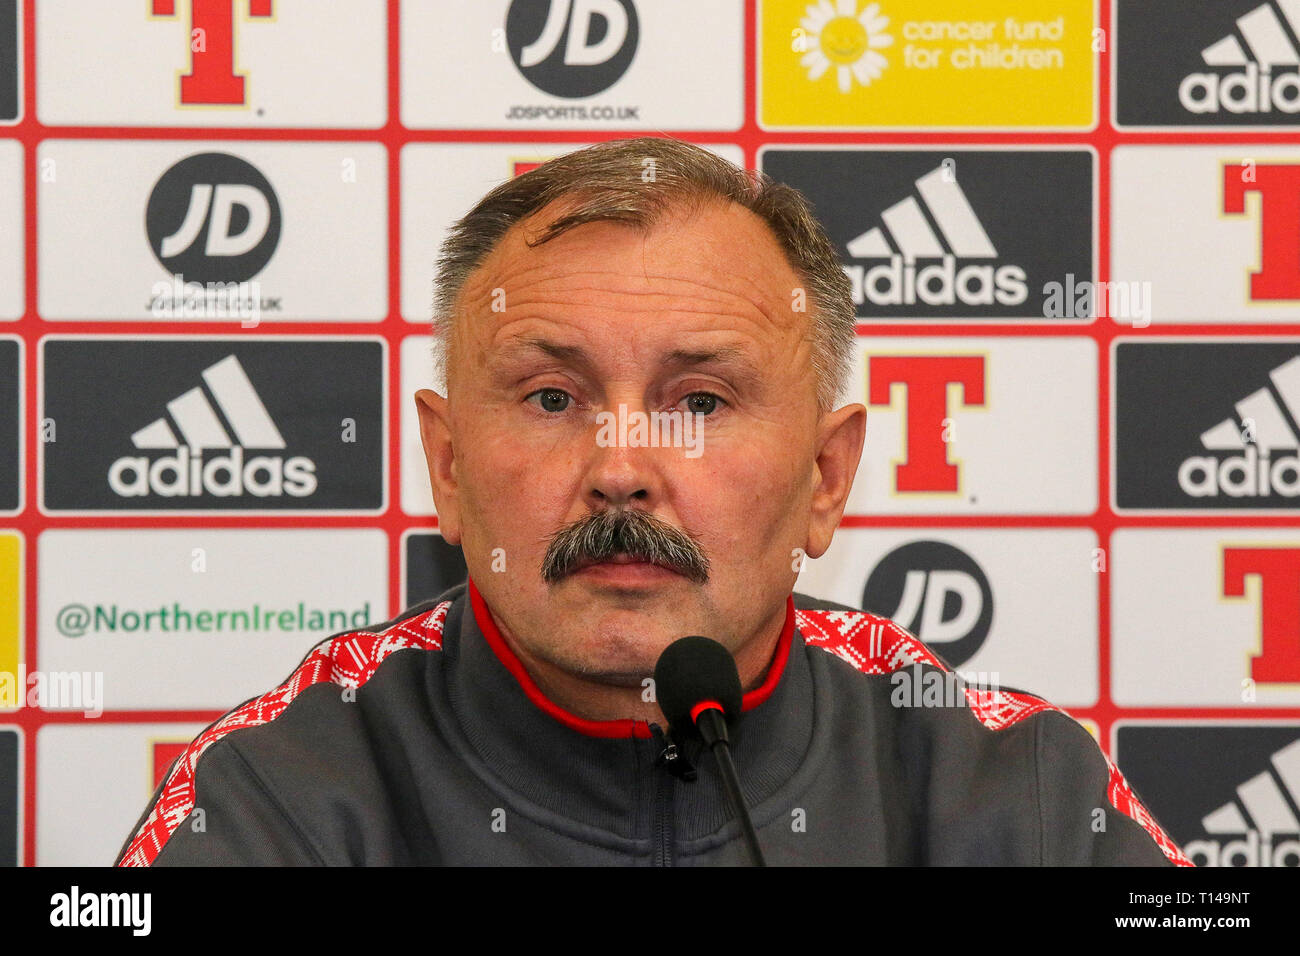
M1191 113L1300 113L1300 0L1260 4L1236 20L1249 47L1228 34L1201 51L1206 66L1232 73L1190 73L1178 85L1178 101ZM1283 25L1283 20L1286 23ZM1274 73L1274 68L1278 72Z

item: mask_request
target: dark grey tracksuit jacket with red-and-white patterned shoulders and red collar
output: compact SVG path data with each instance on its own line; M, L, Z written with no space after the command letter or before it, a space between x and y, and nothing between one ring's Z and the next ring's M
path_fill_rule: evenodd
M888 619L792 596L731 734L770 865L1187 864L1080 724L1018 692L918 706L936 672ZM462 584L211 724L117 862L744 865L701 749L560 711Z

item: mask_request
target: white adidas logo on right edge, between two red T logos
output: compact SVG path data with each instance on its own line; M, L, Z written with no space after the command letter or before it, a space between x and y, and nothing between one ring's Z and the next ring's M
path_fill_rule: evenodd
M1300 497L1300 356L1269 372L1277 395L1268 386L1252 392L1234 407L1240 425L1225 419L1201 434L1208 451L1178 467L1178 485L1193 498ZM1288 454L1274 455L1275 451Z

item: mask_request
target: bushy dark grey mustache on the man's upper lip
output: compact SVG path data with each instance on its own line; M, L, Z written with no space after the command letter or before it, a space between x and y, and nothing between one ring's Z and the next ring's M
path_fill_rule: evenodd
M708 580L708 558L686 532L645 511L604 510L585 515L551 536L542 580L555 584L581 564L627 554L660 564L696 584Z

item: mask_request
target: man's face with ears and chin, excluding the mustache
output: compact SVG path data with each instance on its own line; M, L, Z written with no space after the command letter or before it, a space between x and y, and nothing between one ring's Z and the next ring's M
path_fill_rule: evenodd
M775 635L800 554L818 557L838 522L864 416L835 440L832 471L849 473L828 509L810 315L749 211L710 204L649 233L586 224L528 248L555 215L511 229L465 284L448 395L420 393L421 429L442 533L507 639L568 674L640 685L685 635L734 654ZM679 412L698 427L679 447L633 428L623 441L620 406L633 424ZM547 581L554 536L614 510L684 532L707 579L615 558Z

